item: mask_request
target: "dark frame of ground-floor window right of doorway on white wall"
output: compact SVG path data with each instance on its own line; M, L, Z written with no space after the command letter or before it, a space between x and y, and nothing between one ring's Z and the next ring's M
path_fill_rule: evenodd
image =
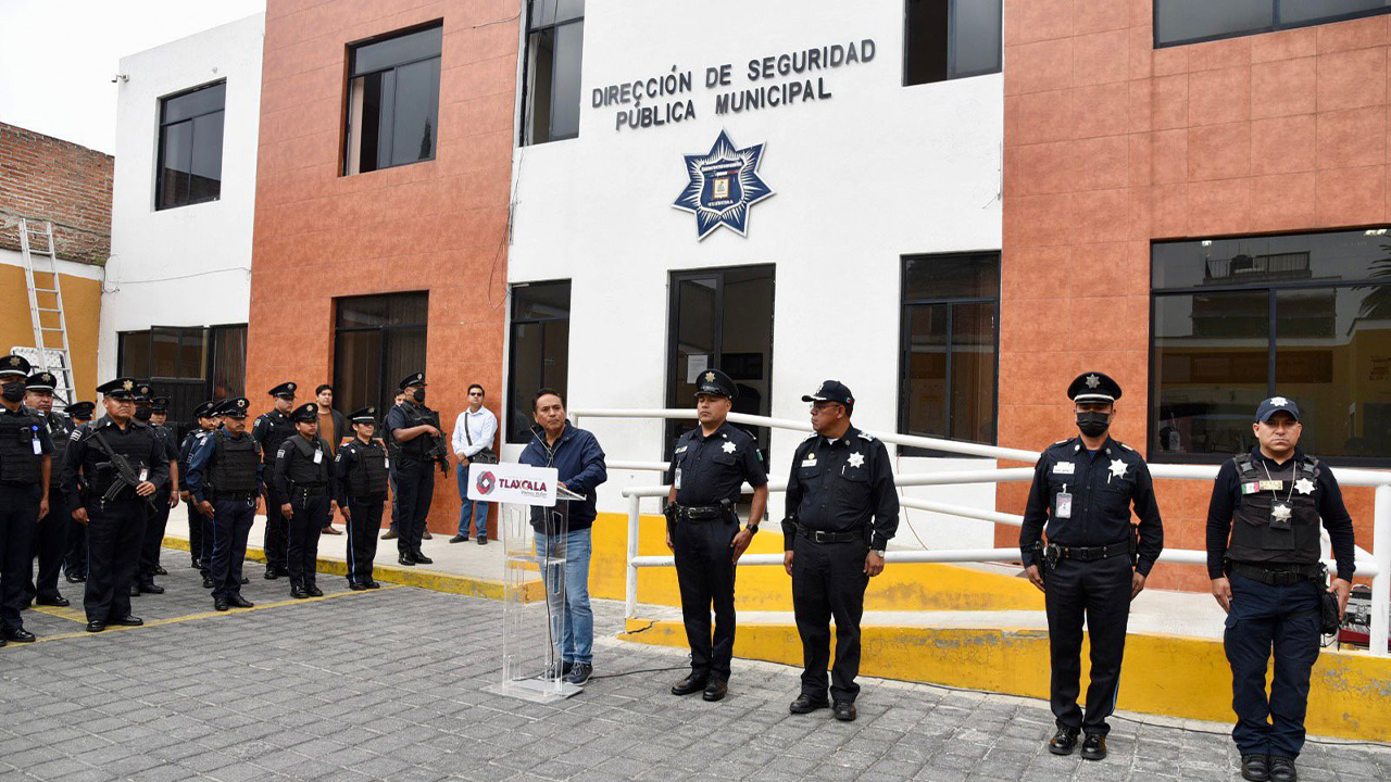
M972 257L982 255L993 255L996 270L997 270L997 284L996 294L990 296L926 296L926 298L908 298L908 263L921 259L953 259L953 257ZM1000 441L1000 291L1004 285L1003 282L1003 256L1004 253L997 249L989 250L961 250L961 252L946 252L946 253L908 253L899 256L899 431L912 436L912 437L932 437L933 440L949 440L953 442L975 442L978 445L997 445ZM990 408L993 415L990 416L990 441L978 442L975 440L963 440L960 437L950 437L951 431L951 415L953 415L953 401L951 401L951 353L953 344L951 337L956 328L954 323L954 305L995 305L995 373L993 385L995 394L990 399ZM946 353L947 353L947 378L946 378L946 410L944 420L947 423L947 434L933 436L924 433L914 433L908 427L910 419L910 395L908 384L911 378L908 377L910 365L912 360L912 340L910 334L910 324L912 319L911 308L918 306L940 306L947 305L947 340L946 340ZM917 448L911 445L899 447L900 456L926 456L926 458L951 458L951 459L975 459L978 456L970 456L965 454L954 454L950 451L938 451L935 448Z

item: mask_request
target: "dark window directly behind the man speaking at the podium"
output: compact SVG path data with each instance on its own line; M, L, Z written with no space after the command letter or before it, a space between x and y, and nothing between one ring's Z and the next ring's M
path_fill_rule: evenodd
M570 372L570 281L512 287L512 359L508 370L508 442L531 438L531 397L566 392Z

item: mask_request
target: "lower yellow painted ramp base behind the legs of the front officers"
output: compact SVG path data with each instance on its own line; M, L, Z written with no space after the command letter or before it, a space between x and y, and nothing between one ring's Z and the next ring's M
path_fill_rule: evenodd
M686 647L680 622L629 619L619 639ZM1049 697L1047 632L1035 629L861 628L860 672L1036 699ZM740 625L734 654L801 665L797 628ZM1085 692L1088 646L1082 647ZM1314 665L1305 719L1310 733L1391 742L1391 658L1324 650ZM1231 669L1221 641L1132 635L1125 640L1118 707L1231 722Z

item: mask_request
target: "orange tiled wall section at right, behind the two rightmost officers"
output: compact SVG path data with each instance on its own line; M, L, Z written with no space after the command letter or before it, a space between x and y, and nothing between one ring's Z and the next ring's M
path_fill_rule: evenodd
M1095 369L1125 390L1116 437L1145 449L1152 239L1391 218L1387 17L1159 50L1152 19L1152 0L1004 0L1000 442L1071 434L1066 384ZM1203 548L1210 486L1157 491L1166 544ZM1000 508L1025 493L1002 484ZM1370 490L1346 495L1370 548Z

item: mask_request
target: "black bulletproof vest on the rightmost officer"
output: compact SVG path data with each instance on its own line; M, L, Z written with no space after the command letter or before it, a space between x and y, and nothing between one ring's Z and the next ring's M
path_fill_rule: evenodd
M1256 465L1251 454L1237 456L1241 501L1232 513L1231 545L1227 558L1234 562L1276 562L1314 565L1319 562L1319 505L1314 493L1301 493L1295 481L1317 483L1319 459L1289 459L1270 470ZM1281 481L1280 488L1260 488L1260 481ZM1248 493L1249 491L1249 493ZM1277 508L1288 506L1285 519Z

